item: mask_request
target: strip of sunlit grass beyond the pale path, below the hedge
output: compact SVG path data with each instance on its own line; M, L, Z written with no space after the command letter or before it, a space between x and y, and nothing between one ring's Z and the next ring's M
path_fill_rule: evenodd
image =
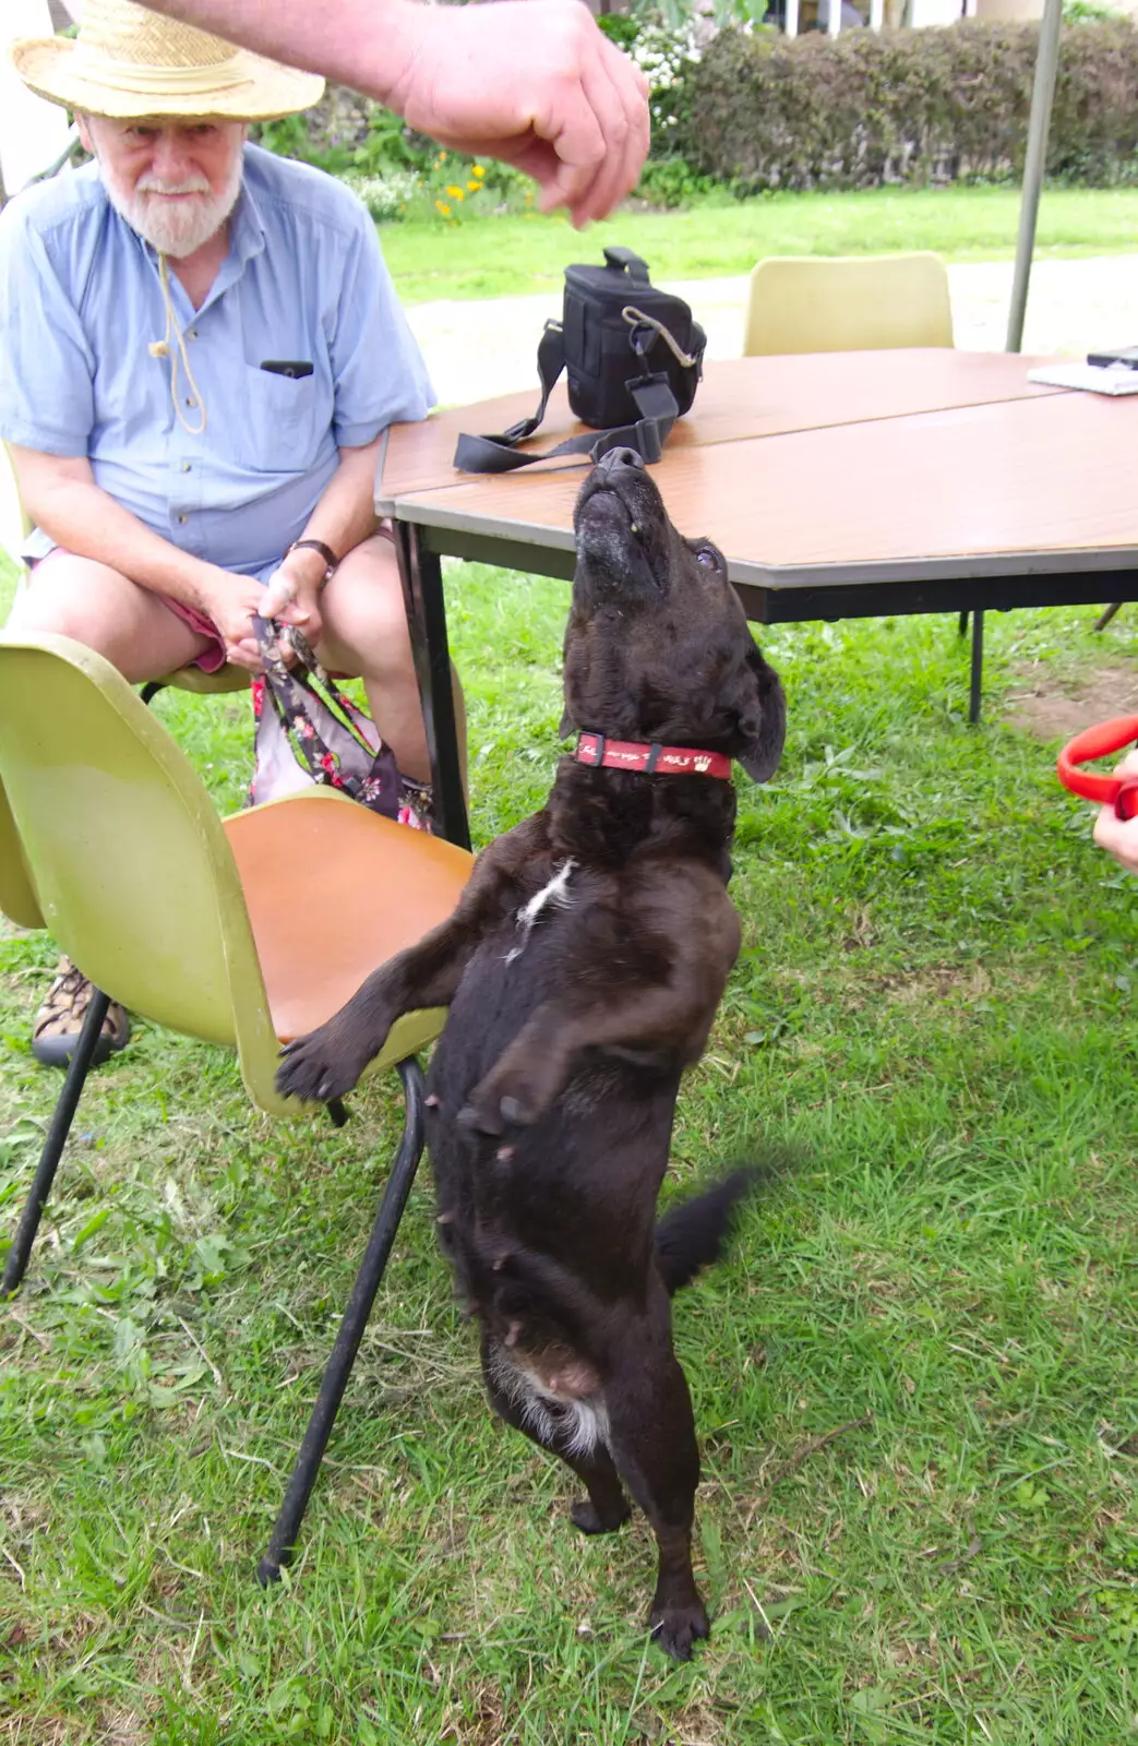
M1019 189L867 189L716 199L675 213L625 211L578 236L564 217L471 223L393 223L384 255L405 304L506 297L560 286L571 260L600 260L606 243L635 248L658 279L751 272L763 255L878 255L932 248L948 260L1016 251ZM1138 248L1138 189L1047 189L1037 258Z

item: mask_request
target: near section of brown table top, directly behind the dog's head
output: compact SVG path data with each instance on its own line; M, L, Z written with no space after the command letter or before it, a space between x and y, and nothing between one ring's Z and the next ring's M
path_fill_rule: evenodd
M1025 360L991 361L1016 363L1019 377L1026 368ZM677 527L714 540L735 581L1117 569L1138 562L1136 402L1056 391L768 438L668 443L653 477ZM483 477L410 492L396 513L571 550L583 477L579 466Z

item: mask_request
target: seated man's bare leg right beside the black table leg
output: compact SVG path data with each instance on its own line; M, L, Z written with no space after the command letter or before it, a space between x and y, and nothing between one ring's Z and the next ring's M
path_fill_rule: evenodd
M321 594L323 636L318 655L330 672L363 679L368 707L403 775L431 780L419 683L410 653L403 587L394 545L384 534L363 540L344 557ZM466 766L466 716L454 681L459 749Z

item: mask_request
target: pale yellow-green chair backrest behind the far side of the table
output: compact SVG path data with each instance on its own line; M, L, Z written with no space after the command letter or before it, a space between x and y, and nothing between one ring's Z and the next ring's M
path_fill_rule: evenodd
M951 346L939 255L771 257L751 274L744 356Z

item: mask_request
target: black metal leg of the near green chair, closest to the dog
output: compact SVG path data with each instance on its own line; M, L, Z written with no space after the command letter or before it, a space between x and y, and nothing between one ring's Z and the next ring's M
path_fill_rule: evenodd
M332 1426L335 1425L335 1414L340 1400L344 1399L347 1378L351 1376L351 1367L356 1362L356 1351L360 1350L360 1341L363 1339L363 1330L372 1313L372 1304L375 1303L375 1292L379 1290L379 1282L384 1276L384 1268L387 1266L387 1257L391 1255L391 1245L394 1243L394 1234L400 1227L403 1208L407 1206L407 1196L410 1194L412 1182L415 1180L415 1170L419 1168L419 1159L422 1156L422 1069L412 1055L405 1062L398 1063L398 1070L403 1081L403 1096L407 1105L403 1138L400 1140L400 1149L396 1152L394 1165L391 1166L391 1175L387 1177L387 1187L384 1189L384 1198L375 1217L372 1240L368 1241L363 1264L356 1275L356 1283L353 1287L347 1310L344 1311L344 1320L340 1322L340 1332L337 1334L332 1357L328 1358L321 1378L316 1406L312 1407L312 1416L309 1418L309 1428L304 1433L300 1454L297 1456L297 1465L293 1467L291 1479L288 1481L288 1491L284 1493L281 1512L272 1528L269 1550L257 1566L257 1580L262 1587L279 1580L281 1564L288 1564L291 1561L297 1547L300 1523L304 1521L304 1512L307 1509L312 1486L316 1484L316 1474L319 1472L319 1463L325 1458L328 1437L332 1435Z

